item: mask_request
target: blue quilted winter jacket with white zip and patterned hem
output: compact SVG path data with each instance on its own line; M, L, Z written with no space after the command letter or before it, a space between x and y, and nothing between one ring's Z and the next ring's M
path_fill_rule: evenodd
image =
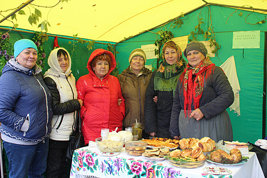
M0 77L0 131L11 138L40 142L51 132L51 95L41 68L35 71L9 60ZM27 131L21 126L29 121Z

